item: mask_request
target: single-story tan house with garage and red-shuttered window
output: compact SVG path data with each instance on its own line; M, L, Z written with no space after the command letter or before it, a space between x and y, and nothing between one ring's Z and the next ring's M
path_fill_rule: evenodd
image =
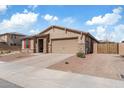
M87 32L60 26L50 26L38 35L22 40L22 51L43 53L93 53L98 41Z

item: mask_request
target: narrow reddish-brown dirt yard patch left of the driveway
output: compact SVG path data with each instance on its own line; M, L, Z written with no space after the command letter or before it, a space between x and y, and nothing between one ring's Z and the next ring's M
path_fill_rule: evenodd
M33 55L31 55L30 53L15 53L15 54L10 54L10 55L0 56L0 61L12 62L15 60L19 60L19 59L27 58L31 56Z

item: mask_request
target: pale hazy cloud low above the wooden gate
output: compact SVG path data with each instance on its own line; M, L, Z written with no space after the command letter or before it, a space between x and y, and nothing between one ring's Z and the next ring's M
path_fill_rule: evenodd
M98 40L108 40L120 42L124 40L124 24L119 24L108 31L107 27L98 26L96 29L90 29L90 33L94 33Z

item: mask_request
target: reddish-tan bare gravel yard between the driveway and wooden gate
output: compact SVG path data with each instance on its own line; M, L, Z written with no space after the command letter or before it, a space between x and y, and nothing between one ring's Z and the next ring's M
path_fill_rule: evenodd
M90 54L86 58L72 56L48 68L124 80L120 77L124 74L124 57L114 54Z

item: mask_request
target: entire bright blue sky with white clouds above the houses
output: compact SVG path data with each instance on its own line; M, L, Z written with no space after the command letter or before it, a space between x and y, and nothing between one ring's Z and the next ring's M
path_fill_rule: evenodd
M0 33L37 34L50 25L90 32L99 40L124 40L124 6L0 6Z

